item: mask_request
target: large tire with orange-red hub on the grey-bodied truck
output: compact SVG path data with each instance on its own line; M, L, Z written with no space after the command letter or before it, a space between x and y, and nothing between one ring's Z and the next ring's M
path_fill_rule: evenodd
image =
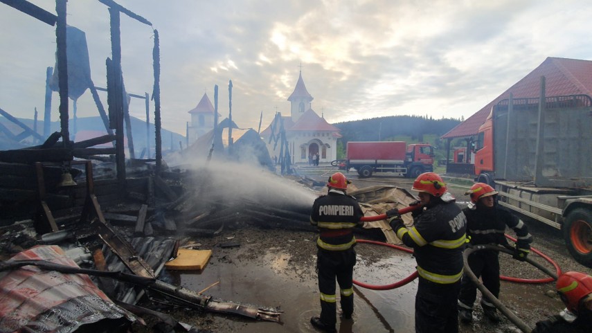
M575 208L568 213L562 228L565 244L575 261L592 267L592 211Z

